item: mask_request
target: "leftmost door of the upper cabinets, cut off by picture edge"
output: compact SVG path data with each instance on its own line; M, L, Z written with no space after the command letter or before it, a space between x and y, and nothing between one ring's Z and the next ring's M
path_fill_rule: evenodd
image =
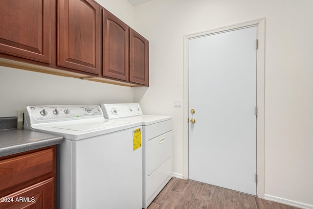
M0 52L50 63L50 0L0 0Z

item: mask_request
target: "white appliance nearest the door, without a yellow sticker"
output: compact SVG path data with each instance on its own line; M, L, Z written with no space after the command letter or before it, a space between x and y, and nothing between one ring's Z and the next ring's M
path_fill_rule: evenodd
M101 104L107 119L130 120L142 125L143 203L146 209L173 177L172 116L143 115L140 105Z

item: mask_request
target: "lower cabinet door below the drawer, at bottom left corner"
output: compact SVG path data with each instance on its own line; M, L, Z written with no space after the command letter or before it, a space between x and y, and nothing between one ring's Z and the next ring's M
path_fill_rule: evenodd
M54 179L47 179L1 199L0 209L53 209Z

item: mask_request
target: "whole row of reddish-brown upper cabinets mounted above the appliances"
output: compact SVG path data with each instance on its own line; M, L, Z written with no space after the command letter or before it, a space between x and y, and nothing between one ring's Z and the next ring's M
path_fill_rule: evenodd
M149 86L149 42L94 0L0 0L0 66Z

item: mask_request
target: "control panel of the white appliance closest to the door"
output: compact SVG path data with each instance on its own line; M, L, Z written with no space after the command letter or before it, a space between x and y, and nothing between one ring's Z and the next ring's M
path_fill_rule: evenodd
M142 111L138 103L129 104L101 104L103 115L106 119L129 116L141 116Z

